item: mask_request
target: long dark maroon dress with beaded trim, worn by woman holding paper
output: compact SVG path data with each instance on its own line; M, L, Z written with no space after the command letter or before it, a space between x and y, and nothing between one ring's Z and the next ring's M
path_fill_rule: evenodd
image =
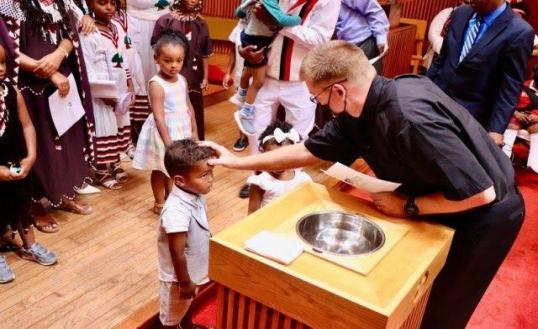
M17 21L12 36L20 45L20 52L31 58L42 58L54 52L57 44L44 34L36 32L41 29L29 26L26 21ZM66 22L67 23L67 22ZM47 26L49 31L61 31L63 21ZM58 136L50 114L48 98L56 87L48 79L41 79L32 72L19 70L18 86L24 97L30 118L37 134L37 159L33 170L34 199L46 197L53 206L61 204L62 197L74 198L75 187L80 187L88 177L90 163L93 161L93 107L86 67L78 44L76 20L70 14L69 25L73 31L72 40L75 49L64 60L58 71L64 76L73 75L76 88L80 94L85 116L73 125L65 134ZM20 26L20 30L18 29ZM19 38L17 38L19 36ZM67 37L67 36L62 36Z

